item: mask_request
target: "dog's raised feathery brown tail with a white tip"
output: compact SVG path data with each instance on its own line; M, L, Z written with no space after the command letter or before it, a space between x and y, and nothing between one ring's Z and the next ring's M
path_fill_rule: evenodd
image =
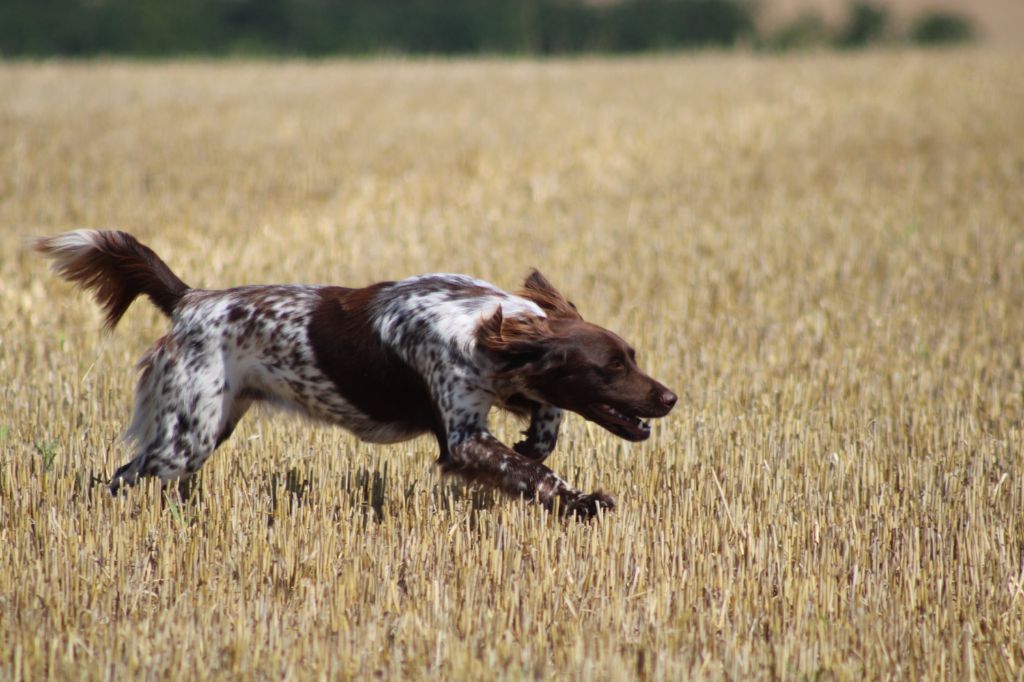
M69 282L92 290L114 329L139 294L168 317L189 290L152 249L128 232L76 229L44 237L33 245L53 259L53 269Z

